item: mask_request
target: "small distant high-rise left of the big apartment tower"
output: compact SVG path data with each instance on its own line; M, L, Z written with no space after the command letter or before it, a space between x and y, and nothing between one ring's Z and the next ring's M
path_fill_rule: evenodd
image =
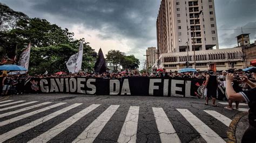
M146 68L152 67L157 60L157 48L149 47L146 49Z

